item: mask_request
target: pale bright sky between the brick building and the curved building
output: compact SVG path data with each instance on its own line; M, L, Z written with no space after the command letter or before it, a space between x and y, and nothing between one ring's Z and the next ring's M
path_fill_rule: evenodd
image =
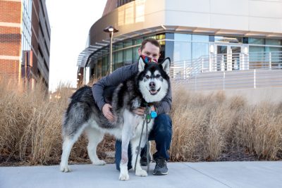
M76 87L78 55L85 49L90 27L102 17L106 0L46 0L51 25L49 90L60 82Z

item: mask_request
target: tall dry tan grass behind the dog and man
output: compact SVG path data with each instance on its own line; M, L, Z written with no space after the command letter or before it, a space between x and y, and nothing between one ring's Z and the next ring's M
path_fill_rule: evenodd
M92 82L94 82L92 80ZM90 85L92 85L92 82ZM68 84L49 99L42 82L27 90L23 83L0 78L0 162L28 165L59 163L61 120L73 90ZM171 161L217 161L226 151L244 148L257 159L282 156L282 103L251 106L242 96L224 92L203 95L173 88ZM73 146L70 160L89 162L87 139ZM113 151L106 137L100 151ZM99 154L99 153L98 153ZM103 155L100 155L105 157Z

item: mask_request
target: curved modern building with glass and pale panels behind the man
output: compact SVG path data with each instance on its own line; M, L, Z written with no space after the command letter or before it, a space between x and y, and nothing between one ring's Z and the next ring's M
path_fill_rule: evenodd
M143 39L161 43L171 78L188 89L282 87L281 0L107 1L78 57L78 79L109 73L137 61ZM212 82L211 82L212 80Z

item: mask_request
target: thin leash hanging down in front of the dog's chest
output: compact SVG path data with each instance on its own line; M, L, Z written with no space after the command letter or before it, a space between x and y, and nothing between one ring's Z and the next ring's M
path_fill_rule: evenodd
M136 160L135 160L134 173L136 173L137 158L138 158L139 153L140 153L140 151L141 151L141 149L140 149L141 139L142 139L142 134L143 134L143 130L144 130L144 125L145 125L145 123L146 123L147 173L149 174L149 134L148 134L148 123L150 123L150 122L151 122L151 114L149 113L149 106L148 106L148 104L146 104L146 113L145 113L145 117L144 117L143 125L142 125L142 130L141 130L141 134L140 134L140 140L139 140L139 145L138 145L138 149L137 149L137 156L136 156ZM141 156L140 156L140 157L141 157Z

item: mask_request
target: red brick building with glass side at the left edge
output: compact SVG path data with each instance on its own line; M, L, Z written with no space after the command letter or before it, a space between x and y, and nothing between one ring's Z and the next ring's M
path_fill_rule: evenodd
M0 0L0 75L48 88L50 35L45 0Z

